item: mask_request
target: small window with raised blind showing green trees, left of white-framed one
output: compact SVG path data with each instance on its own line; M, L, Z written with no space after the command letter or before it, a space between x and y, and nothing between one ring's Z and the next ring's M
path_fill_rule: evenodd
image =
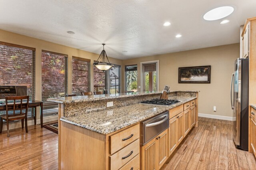
M125 66L125 91L137 91L137 65Z

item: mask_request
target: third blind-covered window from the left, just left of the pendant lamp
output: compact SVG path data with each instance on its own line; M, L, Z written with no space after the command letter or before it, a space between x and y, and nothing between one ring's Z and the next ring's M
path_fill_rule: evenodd
M72 93L90 90L90 59L72 57Z

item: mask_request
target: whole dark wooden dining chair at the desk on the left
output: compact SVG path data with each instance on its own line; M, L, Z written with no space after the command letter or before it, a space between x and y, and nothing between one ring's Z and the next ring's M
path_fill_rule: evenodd
M26 102L24 100L26 100ZM10 101L13 103L10 103ZM0 133L2 133L3 130L3 120L6 121L7 137L9 137L9 121L16 121L20 119L22 128L24 128L25 119L25 128L26 132L28 132L28 102L29 96L5 97L6 115L0 115Z

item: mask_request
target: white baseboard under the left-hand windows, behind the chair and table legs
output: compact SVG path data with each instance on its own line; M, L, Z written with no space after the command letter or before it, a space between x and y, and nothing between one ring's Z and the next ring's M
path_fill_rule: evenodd
M57 120L58 120L58 115L53 115L53 116L44 117L43 122L47 123L47 122L57 121ZM40 119L36 120L36 124L37 125L40 124ZM30 125L34 125L34 120L28 121L28 126ZM14 128L21 128L21 121L9 124L10 130ZM7 130L6 124L3 125L3 130Z

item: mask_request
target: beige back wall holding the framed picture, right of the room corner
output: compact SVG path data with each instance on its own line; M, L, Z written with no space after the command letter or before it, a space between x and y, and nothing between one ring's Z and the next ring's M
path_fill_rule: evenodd
M159 60L159 90L169 85L170 90L199 90L198 112L232 117L230 109L230 80L234 60L239 58L239 43L154 55L123 61L123 65L138 65L140 85L140 62ZM178 83L178 67L211 65L211 83ZM124 75L124 67L122 68ZM123 80L124 82L124 76ZM140 89L138 89L140 91ZM216 106L216 112L213 111Z

